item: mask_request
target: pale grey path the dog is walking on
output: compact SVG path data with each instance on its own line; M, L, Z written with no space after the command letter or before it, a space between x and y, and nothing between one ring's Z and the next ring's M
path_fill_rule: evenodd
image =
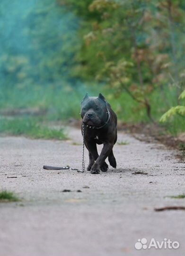
M0 203L0 256L185 255L185 211L154 211L185 205L185 199L167 197L185 191L185 165L176 152L119 132L118 142L127 145L115 145L116 170L44 170L43 165L81 168L80 131L69 128L69 134L72 139L64 142L0 137L0 189L22 198ZM167 238L180 247L136 250L141 238Z

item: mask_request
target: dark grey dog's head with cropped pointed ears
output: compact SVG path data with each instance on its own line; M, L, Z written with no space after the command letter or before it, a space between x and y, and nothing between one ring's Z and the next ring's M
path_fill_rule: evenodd
M98 97L89 97L88 93L81 102L81 117L85 125L98 127L107 119L107 103L105 97L99 93Z

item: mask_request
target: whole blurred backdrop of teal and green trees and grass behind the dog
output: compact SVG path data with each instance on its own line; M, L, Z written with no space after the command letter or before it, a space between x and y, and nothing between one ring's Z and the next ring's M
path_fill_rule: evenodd
M120 123L185 131L184 0L1 0L0 132L63 139L88 91ZM162 118L161 118L162 117Z

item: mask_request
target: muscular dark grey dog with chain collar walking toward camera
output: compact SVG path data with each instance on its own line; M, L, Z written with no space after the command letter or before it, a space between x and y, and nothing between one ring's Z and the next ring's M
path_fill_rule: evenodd
M117 140L117 117L110 104L101 93L98 97L89 97L86 93L81 102L80 114L85 128L85 145L89 152L88 171L91 174L99 174L100 169L106 172L107 156L110 165L115 168L113 146ZM97 144L104 144L100 155L97 153Z

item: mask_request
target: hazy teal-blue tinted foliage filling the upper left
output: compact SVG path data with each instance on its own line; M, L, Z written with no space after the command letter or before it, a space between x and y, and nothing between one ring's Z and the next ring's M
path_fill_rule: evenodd
M0 87L53 85L72 79L79 18L55 0L0 2ZM62 81L62 82L61 82Z

